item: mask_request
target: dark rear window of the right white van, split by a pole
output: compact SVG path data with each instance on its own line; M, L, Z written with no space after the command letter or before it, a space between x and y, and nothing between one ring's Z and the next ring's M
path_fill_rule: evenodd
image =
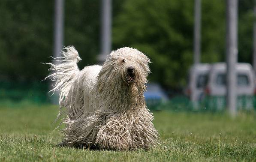
M216 78L216 84L219 86L226 86L226 74L220 73L217 75ZM246 74L238 74L237 75L237 85L240 86L248 86L249 83L249 78L248 75Z

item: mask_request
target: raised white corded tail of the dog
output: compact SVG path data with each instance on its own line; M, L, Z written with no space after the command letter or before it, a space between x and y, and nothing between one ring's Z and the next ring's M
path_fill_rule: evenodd
M51 81L55 81L53 89L49 92L55 92L55 90L60 91L60 103L68 95L70 88L72 87L72 82L77 76L79 69L77 63L82 60L74 46L68 46L63 48L65 51L62 51L61 57L52 57L54 63L45 63L51 66L49 71L53 73L45 79L49 78ZM44 79L44 80L45 80Z

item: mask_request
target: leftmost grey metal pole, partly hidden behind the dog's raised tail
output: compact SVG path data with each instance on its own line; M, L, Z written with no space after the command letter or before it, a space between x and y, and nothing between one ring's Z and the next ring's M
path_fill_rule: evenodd
M63 47L63 21L64 21L64 11L63 11L64 0L55 0L55 11L54 11L54 57L61 56L61 50ZM54 62L57 64L58 62ZM51 82L50 88L55 84ZM53 104L59 103L59 93L55 92L52 96L51 102Z

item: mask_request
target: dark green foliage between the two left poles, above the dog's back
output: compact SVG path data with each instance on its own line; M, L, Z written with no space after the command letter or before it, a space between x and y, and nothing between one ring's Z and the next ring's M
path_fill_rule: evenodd
M100 1L65 1L65 45L74 45L82 61L80 69L97 63L100 36Z

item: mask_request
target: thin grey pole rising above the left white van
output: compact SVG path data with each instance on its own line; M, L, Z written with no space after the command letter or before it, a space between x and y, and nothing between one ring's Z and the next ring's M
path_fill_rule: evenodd
M194 6L194 64L200 63L201 55L201 0Z

